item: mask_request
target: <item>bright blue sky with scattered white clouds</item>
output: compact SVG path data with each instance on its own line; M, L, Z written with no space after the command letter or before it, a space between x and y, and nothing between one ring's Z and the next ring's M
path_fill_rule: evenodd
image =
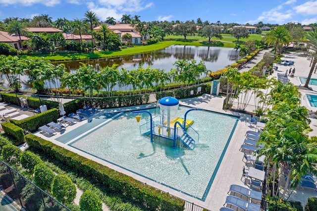
M53 21L73 20L83 18L88 10L95 11L102 21L107 17L120 21L123 14L131 14L141 16L141 21L317 22L317 0L0 0L0 20L41 14L48 14Z

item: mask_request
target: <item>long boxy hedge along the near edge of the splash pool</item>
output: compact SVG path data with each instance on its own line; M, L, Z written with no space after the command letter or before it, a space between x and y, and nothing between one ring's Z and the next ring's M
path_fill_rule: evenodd
M120 193L129 201L136 201L151 211L183 211L185 202L179 198L163 193L130 176L117 172L98 162L84 158L76 153L44 140L33 134L25 136L30 147L42 150L47 155L75 169L98 185L106 186L114 193Z

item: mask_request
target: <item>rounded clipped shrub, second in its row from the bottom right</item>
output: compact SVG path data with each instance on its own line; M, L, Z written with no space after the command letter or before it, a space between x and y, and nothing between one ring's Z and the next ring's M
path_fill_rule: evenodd
M66 175L56 175L52 183L52 196L62 204L72 204L76 197L76 186Z

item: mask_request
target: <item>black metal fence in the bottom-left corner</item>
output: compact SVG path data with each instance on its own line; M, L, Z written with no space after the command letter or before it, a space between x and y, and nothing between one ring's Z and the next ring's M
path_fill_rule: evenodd
M70 211L0 160L1 190L25 211Z

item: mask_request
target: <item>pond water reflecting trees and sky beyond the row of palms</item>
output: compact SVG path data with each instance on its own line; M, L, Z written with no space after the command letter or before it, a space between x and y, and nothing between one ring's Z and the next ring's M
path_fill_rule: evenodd
M193 60L197 63L203 60L206 67L211 71L217 71L232 64L238 59L238 54L230 48L204 47L204 46L170 46L160 51L141 53L117 58L90 59L85 61L67 61L65 64L67 71L75 73L80 67L81 62L86 65L92 65L97 71L102 67L118 64L118 69L127 68L127 70L137 69L139 65L144 68L164 69L169 72L175 66L173 63L177 60ZM59 63L57 63L59 64Z

